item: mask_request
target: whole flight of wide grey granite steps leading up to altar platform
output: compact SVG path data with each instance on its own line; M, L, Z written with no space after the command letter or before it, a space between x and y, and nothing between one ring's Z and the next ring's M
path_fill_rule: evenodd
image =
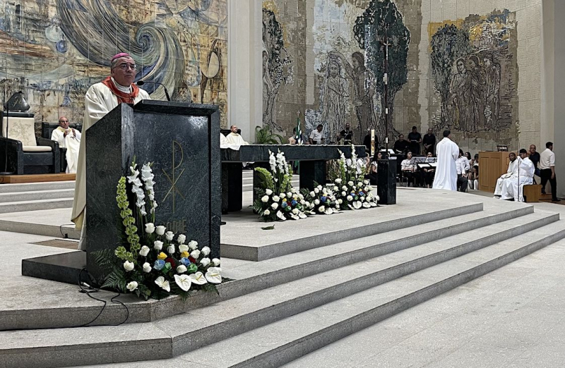
M565 238L559 214L522 203L463 201L397 221L379 221L379 208L359 213L374 218L371 226L343 229L352 212L332 215L335 232L290 252L270 247L258 262L222 257L234 281L220 296L128 304L121 326L71 328L100 306L13 312L0 324L12 330L0 332L0 366L280 367ZM99 322L124 315L112 306Z

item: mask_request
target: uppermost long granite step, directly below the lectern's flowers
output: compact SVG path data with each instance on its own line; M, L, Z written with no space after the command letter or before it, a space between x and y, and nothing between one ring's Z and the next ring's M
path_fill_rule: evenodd
M292 282L314 274L326 272L341 266L364 262L383 254L396 252L423 243L433 242L465 231L472 231L483 226L490 226L502 221L509 221L520 216L533 216L532 206L521 206L509 210L500 209L496 202L487 203L485 211L478 211L462 216L444 216L437 221L403 227L387 233L379 233L364 238L348 240L344 243L328 245L322 248L306 250L283 257L267 259L262 262L242 262L237 259L222 257L225 277L234 281L218 287L220 295L198 293L186 304L180 298L150 300L138 302L124 300L129 307L129 323L155 321L182 312L190 312L199 307L206 307L218 302L237 298L273 286ZM508 206L506 206L508 207ZM514 207L514 206L511 206ZM542 220L545 221L545 220ZM412 221L407 221L408 223ZM111 298L112 293L99 293L98 297ZM25 310L13 309L1 311L6 320L4 329L59 328L78 326L93 320L100 312L100 305L92 302L80 307L69 301L66 307L54 309L42 305L41 301ZM125 318L123 307L109 304L97 319L96 324L115 324Z

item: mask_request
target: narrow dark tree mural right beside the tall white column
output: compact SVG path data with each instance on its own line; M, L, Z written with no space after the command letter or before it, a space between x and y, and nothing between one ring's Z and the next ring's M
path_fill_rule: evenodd
M282 130L276 123L275 103L281 85L292 84L292 59L285 49L283 27L275 12L263 8L263 126Z

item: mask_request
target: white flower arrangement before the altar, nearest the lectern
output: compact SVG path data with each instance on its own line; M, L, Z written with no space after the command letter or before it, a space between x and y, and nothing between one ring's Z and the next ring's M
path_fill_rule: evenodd
M292 171L289 170L285 154L269 151L269 166L255 168L258 175L258 188L254 188L257 200L253 208L264 221L285 221L287 219L306 219L311 214L311 204L292 187Z

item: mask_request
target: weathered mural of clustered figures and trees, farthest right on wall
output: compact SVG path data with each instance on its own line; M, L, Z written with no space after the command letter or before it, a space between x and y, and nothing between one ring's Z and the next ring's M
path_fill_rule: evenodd
M500 132L517 116L516 14L508 10L433 24L432 76L441 98L434 128Z

